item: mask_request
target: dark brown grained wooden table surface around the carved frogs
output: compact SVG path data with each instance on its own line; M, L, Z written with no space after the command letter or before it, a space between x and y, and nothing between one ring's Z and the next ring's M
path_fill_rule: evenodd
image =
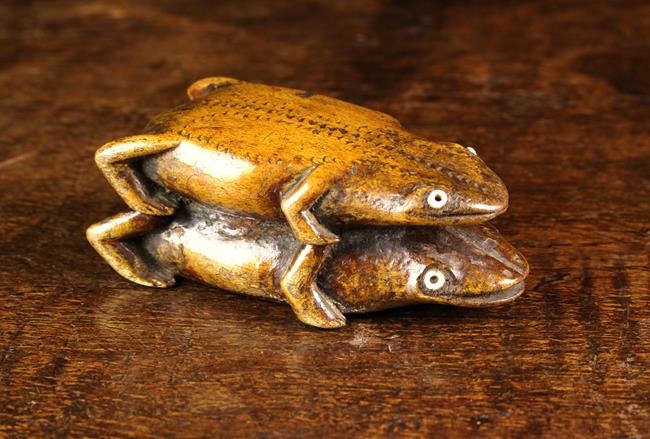
M0 437L650 436L650 3L3 1ZM129 283L93 153L210 75L473 146L527 292L338 331Z

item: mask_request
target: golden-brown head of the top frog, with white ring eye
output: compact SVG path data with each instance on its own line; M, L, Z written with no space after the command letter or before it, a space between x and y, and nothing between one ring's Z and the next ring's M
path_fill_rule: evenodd
M503 213L508 191L472 148L417 141L404 160L368 162L324 197L321 209L346 223L475 224Z

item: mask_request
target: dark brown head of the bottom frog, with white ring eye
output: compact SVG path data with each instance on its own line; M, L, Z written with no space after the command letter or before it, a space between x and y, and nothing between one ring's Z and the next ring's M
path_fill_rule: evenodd
M346 312L490 306L524 290L526 260L490 225L368 230L346 232L319 278Z

